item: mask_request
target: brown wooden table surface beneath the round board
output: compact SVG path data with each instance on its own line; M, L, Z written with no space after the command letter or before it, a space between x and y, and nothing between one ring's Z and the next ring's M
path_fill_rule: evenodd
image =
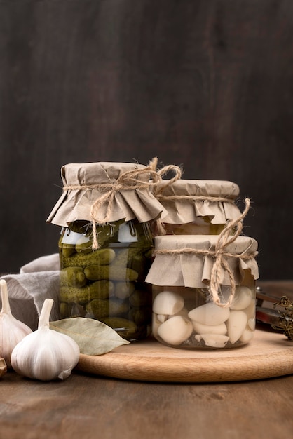
M293 281L259 282L293 295ZM74 372L0 381L0 437L10 439L289 439L293 375L229 383L126 381Z

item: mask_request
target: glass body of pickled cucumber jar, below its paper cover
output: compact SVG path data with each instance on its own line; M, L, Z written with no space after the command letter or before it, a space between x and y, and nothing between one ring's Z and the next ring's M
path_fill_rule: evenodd
M89 317L113 327L125 339L147 337L151 289L144 282L153 246L149 224L116 221L97 228L77 221L60 237L60 315Z

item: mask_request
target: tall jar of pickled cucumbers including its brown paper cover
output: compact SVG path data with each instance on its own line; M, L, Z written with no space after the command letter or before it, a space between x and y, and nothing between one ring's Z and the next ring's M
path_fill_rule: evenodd
M151 332L150 222L161 203L149 191L149 167L71 163L48 222L62 227L60 318L95 318L134 341Z

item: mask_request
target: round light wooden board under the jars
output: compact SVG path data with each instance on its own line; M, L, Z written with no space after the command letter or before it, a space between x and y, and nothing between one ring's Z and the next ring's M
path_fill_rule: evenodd
M137 381L264 379L293 373L293 342L278 332L256 330L252 342L239 348L190 351L163 346L149 338L101 356L81 354L76 369Z

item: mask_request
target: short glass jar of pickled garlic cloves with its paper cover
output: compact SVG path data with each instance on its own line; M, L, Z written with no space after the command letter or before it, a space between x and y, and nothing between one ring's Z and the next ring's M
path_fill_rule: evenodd
M238 236L224 249L236 288L222 265L215 293L211 278L216 244L216 236L155 238L155 259L146 280L153 285L152 333L158 342L181 349L219 349L252 339L257 241Z

